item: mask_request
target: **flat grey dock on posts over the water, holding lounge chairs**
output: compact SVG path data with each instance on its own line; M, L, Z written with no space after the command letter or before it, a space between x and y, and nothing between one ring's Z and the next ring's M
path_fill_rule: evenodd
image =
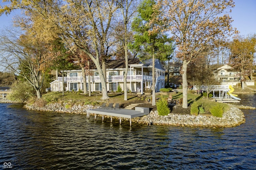
M114 108L98 108L98 109L88 109L86 110L87 117L90 117L90 114L94 113L94 119L96 119L96 114L102 115L102 121L104 120L104 115L110 116L110 121L112 123L112 116L120 117L120 124L121 124L121 117L129 118L130 119L130 126L132 125L132 118L140 117L149 114L148 107L135 107L135 110L131 109L114 109Z

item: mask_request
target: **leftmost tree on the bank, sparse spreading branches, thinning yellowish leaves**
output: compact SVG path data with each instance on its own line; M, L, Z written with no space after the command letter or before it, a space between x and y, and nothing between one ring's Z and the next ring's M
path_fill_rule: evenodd
M2 63L29 82L36 90L37 98L41 98L45 69L50 63L47 45L30 35L17 37L16 32L11 31L0 35L0 40Z

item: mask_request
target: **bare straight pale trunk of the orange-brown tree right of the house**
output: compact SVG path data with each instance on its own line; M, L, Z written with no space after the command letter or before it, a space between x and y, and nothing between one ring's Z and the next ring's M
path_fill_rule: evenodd
M187 68L188 63L186 60L183 61L182 65L182 94L183 94L183 101L182 107L188 108L188 80L187 80Z

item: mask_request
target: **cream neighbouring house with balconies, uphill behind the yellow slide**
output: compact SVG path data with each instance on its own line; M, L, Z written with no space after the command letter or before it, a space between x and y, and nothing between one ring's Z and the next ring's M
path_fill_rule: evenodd
M215 79L220 82L221 85L236 85L237 83L241 82L240 79L240 71L234 69L234 67L229 65L221 66L215 70L214 77ZM247 86L254 86L254 80L246 80Z

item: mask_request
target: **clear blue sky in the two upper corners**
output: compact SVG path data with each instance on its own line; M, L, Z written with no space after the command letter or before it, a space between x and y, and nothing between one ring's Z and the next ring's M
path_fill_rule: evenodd
M2 0L0 0L2 5ZM232 25L240 31L240 35L256 33L256 0L234 0L235 7L230 16L234 20ZM12 18L18 15L14 12L9 16L5 14L0 17L0 30L12 25Z

